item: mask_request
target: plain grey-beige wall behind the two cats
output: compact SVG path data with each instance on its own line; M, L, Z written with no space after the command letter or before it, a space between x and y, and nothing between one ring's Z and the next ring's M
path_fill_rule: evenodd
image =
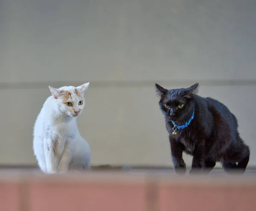
M2 0L0 164L35 164L49 85L90 81L78 122L92 164L172 165L154 83L199 82L236 114L256 165L255 11L253 0Z

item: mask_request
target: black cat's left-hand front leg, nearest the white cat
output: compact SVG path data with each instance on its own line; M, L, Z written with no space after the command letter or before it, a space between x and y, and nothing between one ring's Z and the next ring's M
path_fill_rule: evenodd
M186 164L182 158L182 153L184 151L184 145L175 141L170 137L171 153L172 153L172 162L177 174L184 175L186 173Z

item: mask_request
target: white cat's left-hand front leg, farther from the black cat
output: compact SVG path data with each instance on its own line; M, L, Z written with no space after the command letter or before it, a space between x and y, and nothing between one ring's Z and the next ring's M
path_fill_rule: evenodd
M51 139L44 140L44 156L47 165L47 173L57 173L54 142Z

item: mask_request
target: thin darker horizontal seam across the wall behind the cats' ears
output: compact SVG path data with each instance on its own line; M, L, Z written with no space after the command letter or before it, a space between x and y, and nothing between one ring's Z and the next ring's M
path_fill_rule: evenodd
M48 86L79 86L87 81L44 81L44 82L10 82L0 83L0 90L14 89L44 89ZM90 81L90 87L154 87L154 84L162 86L189 86L199 83L201 86L256 86L256 80L155 80L155 81Z

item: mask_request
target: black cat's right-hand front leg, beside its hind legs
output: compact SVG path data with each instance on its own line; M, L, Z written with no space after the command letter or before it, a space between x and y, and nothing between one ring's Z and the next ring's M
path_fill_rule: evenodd
M192 159L192 168L189 173L197 173L203 170L205 163L205 143L201 141L195 145Z

